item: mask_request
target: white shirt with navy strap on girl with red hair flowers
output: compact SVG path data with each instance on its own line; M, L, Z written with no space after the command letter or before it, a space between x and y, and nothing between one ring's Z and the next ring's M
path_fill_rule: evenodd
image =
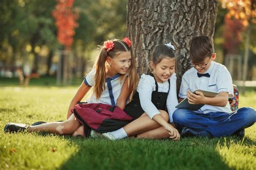
M96 70L93 69L84 79L84 83L86 86L94 86L95 85L95 72ZM110 79L110 78L106 78ZM112 77L112 80L110 81L109 85L107 82L105 83L105 90L102 92L102 95L97 100L95 95L91 94L89 97L87 97L86 102L87 103L103 103L103 104L109 104L112 106L116 106L117 99L120 95L122 86L124 84L124 79L120 81L119 74L116 74Z

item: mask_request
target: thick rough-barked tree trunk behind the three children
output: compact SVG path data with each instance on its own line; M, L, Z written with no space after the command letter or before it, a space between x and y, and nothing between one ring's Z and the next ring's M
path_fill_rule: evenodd
M200 35L213 38L217 3L217 0L129 0L126 35L133 42L132 53L139 74L150 71L149 60L154 46L171 42L177 49L176 73L180 83L183 73L191 67L191 39Z

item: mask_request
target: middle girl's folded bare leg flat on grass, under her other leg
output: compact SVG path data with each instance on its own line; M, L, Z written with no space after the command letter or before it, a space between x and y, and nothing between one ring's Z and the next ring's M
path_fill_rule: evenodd
M163 139L163 138L169 138L169 137L170 137L170 134L165 130L163 126L137 135L137 138L147 138L147 139Z

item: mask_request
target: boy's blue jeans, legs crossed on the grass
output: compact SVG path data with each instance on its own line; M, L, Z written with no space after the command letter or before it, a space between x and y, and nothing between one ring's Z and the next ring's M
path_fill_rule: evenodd
M187 109L177 109L172 118L179 129L187 126L198 130L203 136L210 133L213 137L220 137L252 126L256 121L256 111L251 107L241 107L229 114L224 112L203 114Z

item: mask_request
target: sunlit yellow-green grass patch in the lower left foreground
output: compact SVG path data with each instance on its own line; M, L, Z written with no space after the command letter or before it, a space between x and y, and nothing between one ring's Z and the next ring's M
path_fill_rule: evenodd
M1 133L0 137L5 141L0 144L2 168L58 168L79 150L73 142L55 135Z

